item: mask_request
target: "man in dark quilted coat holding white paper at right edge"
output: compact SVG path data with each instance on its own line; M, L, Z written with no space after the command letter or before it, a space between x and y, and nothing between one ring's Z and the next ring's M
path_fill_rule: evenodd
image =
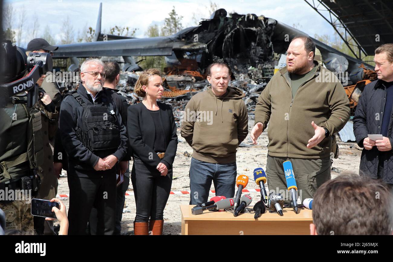
M364 87L353 119L356 143L363 147L360 175L393 184L393 44L375 50L378 80ZM371 140L369 134L382 134Z

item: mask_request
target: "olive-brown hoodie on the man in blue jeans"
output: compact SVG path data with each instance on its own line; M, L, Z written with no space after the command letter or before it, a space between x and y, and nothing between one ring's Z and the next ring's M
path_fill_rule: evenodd
M242 90L233 87L221 97L208 87L191 98L184 109L182 137L193 148L193 158L209 163L236 162L237 147L248 134L242 98Z

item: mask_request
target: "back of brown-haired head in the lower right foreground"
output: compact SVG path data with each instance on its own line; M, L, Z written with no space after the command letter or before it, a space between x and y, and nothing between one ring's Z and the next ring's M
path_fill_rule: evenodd
M311 235L390 235L393 196L389 185L356 174L340 175L318 188Z

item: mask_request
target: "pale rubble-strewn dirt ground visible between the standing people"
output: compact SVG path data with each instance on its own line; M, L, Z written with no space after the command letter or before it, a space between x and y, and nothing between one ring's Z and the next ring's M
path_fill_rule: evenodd
M243 141L244 144L252 145L250 132L254 125L254 120L249 120L248 129L249 134ZM338 136L337 136L338 138ZM172 191L190 190L189 188L189 165L191 156L187 157L184 152L192 153L191 147L185 142L184 138L180 136L180 129L178 128L178 139L179 144L177 148L176 158L173 164L173 182ZM258 145L252 147L239 147L237 151L237 174L244 174L250 177L249 183L246 188L259 188L253 181L253 170L257 167L262 167L266 170L266 159L267 159L267 129L258 138ZM338 159L334 159L332 164L332 179L340 175L342 171L359 171L360 163L360 150L356 149L355 143L347 142L342 143L338 138L338 145L340 153ZM132 161L130 162L130 170L132 168ZM68 182L66 172L63 170L63 177L59 179L58 194L69 194ZM268 175L267 175L268 177ZM267 184L266 184L267 185ZM214 190L213 185L211 190ZM268 188L267 188L268 190ZM121 234L134 234L133 221L135 218L135 199L132 194L132 184L130 183L128 194L126 196L125 208L123 210L123 219L121 221ZM261 195L259 192L250 192L250 196L253 197L251 206L260 200ZM214 194L210 193L209 198L213 197ZM62 198L68 208L69 200L67 197ZM180 205L188 205L190 201L190 194L171 194L169 196L166 208L164 210L164 229L163 234L180 234L181 233L181 214Z

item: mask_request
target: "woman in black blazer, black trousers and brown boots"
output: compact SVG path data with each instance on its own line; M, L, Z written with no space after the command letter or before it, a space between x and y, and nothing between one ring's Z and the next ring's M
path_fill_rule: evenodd
M162 234L163 210L171 192L178 141L172 107L157 101L163 90L158 69L143 71L134 88L143 100L128 109L127 130L134 153L131 182L136 201L136 235L147 235L149 231Z

